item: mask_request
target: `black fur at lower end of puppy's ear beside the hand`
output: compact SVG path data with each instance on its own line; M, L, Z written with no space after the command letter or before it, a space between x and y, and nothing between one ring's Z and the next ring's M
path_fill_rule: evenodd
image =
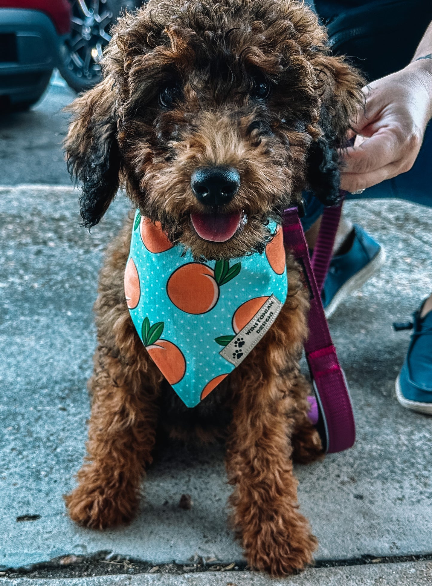
M340 200L339 153L329 115L322 111L320 126L322 137L312 142L306 159L309 189L325 206L333 206Z

